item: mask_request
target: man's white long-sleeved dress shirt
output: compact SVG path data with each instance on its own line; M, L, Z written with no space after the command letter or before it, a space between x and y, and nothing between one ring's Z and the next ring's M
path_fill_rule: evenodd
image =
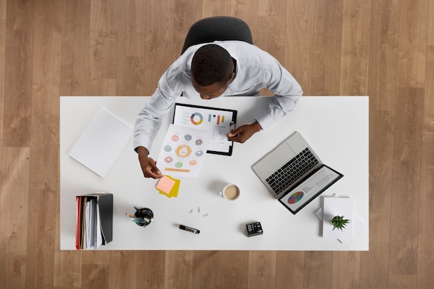
M222 46L236 60L234 79L220 97L259 96L259 90L263 87L270 90L275 94L273 100L256 117L263 130L293 110L302 96L302 88L272 55L247 42L213 43ZM139 112L134 124L134 149L144 146L150 151L162 119L178 97L200 98L191 84L191 60L203 45L205 44L187 49L160 78L157 89Z

